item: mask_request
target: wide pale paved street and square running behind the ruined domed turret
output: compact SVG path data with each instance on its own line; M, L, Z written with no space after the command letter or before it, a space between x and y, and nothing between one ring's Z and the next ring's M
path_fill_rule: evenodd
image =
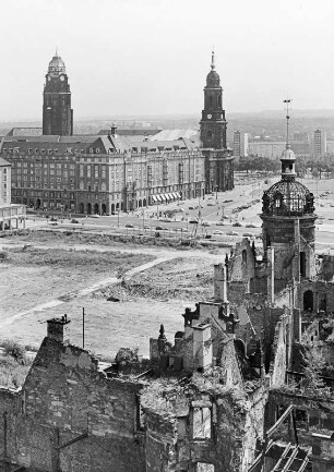
M43 217L28 216L27 227L37 228L43 226L55 228L71 227L73 229L103 229L112 232L127 234L155 234L160 231L165 237L200 238L211 237L216 241L235 241L248 233L251 237L261 234L262 221L259 217L262 207L262 194L265 189L272 185L278 178L271 179L265 183L264 179L253 183L242 180L232 191L213 193L201 199L188 199L158 204L147 208L139 208L129 214L119 213L115 216L87 216L75 217L77 223L70 220L59 219L51 222ZM334 194L325 197L317 196L321 189L334 187L332 180L315 182L312 179L303 180L307 186L314 192L317 214L320 219L317 221L317 249L334 249ZM313 189L314 187L314 189ZM237 211L241 206L249 206ZM167 218L169 211L177 211L171 218ZM159 215L159 217L157 217ZM195 225L200 216L202 225ZM222 225L224 222L224 226ZM204 225L203 225L204 223ZM235 225L240 226L235 226ZM249 227L253 226L253 227ZM220 233L218 233L218 231ZM235 235L228 234L234 232Z

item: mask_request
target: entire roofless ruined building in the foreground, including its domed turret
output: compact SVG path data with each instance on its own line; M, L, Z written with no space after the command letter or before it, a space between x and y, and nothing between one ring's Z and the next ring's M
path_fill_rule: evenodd
M0 388L0 470L333 471L334 258L288 143L261 218L262 253L244 239L217 262L214 301L150 359L102 367L49 319L23 387Z

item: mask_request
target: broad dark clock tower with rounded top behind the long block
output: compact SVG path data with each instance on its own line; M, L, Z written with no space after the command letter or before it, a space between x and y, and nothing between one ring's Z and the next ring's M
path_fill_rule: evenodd
M49 63L43 97L43 134L72 136L73 110L69 77L57 51Z

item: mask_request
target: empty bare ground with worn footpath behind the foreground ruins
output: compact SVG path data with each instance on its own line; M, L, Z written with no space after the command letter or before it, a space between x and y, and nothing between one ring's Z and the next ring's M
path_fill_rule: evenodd
M37 234L1 240L10 259L0 264L0 338L38 346L46 319L67 313L71 341L81 346L84 307L85 348L104 358L121 347L147 355L148 338L162 323L171 340L182 329L186 306L212 298L213 263L225 256L224 250L215 255ZM110 295L120 302L108 301Z

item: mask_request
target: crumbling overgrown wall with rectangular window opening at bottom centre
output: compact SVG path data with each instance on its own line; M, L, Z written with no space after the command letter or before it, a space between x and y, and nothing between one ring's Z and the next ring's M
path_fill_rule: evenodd
M189 385L156 380L144 389L146 447L151 448L147 472L195 471L199 462L213 464L216 472L248 470L262 438L266 397L263 390L252 398L238 388L219 386L215 372ZM194 429L193 421L201 408L210 410L211 428L206 423L206 437L199 439L194 437L199 425Z

